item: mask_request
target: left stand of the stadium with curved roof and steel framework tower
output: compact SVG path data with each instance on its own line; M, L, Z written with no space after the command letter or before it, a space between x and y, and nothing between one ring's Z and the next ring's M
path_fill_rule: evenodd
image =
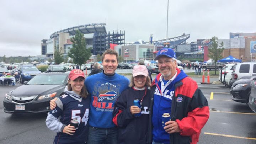
M94 55L102 54L110 47L110 44L124 44L125 31L107 32L106 23L95 23L79 25L64 30L57 31L50 35L49 39L43 39L41 42L41 54L53 56L54 50L60 50L64 57L67 56L69 49L72 48L70 38L80 31L87 40L86 48L92 47Z

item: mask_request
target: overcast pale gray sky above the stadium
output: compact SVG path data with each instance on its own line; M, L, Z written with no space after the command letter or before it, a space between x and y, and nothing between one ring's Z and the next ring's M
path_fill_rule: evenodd
M169 0L168 37L190 34L229 39L229 32L256 32L256 0ZM166 38L167 0L2 0L0 56L41 54L41 40L56 31L107 23L126 31L126 42Z

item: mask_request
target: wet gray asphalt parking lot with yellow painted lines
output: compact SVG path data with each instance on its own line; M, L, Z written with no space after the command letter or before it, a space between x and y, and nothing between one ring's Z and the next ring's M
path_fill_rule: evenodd
M127 70L117 70L117 73L120 71ZM198 144L255 144L256 114L247 104L231 100L230 88L224 85L199 84L202 80L200 77L193 79L198 82L210 108L210 118L201 131ZM218 78L211 78L211 82L217 80ZM18 86L1 86L0 101L4 100L6 92ZM55 133L46 127L46 113L7 114L4 113L1 102L0 115L1 144L53 143Z

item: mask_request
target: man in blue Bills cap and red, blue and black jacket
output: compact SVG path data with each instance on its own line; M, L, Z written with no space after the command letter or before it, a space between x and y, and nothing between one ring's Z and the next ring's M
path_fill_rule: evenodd
M206 97L197 83L177 68L176 54L170 48L156 55L160 74L151 87L148 143L196 144L201 129L209 119ZM162 114L171 121L162 126Z

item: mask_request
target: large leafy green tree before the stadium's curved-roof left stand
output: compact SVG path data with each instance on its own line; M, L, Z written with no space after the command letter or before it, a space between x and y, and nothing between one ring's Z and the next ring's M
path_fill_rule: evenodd
M69 48L68 57L73 58L73 62L79 64L81 69L81 65L91 56L90 49L86 49L84 34L78 30L76 30L75 37L72 37L70 40L73 44L72 48Z

